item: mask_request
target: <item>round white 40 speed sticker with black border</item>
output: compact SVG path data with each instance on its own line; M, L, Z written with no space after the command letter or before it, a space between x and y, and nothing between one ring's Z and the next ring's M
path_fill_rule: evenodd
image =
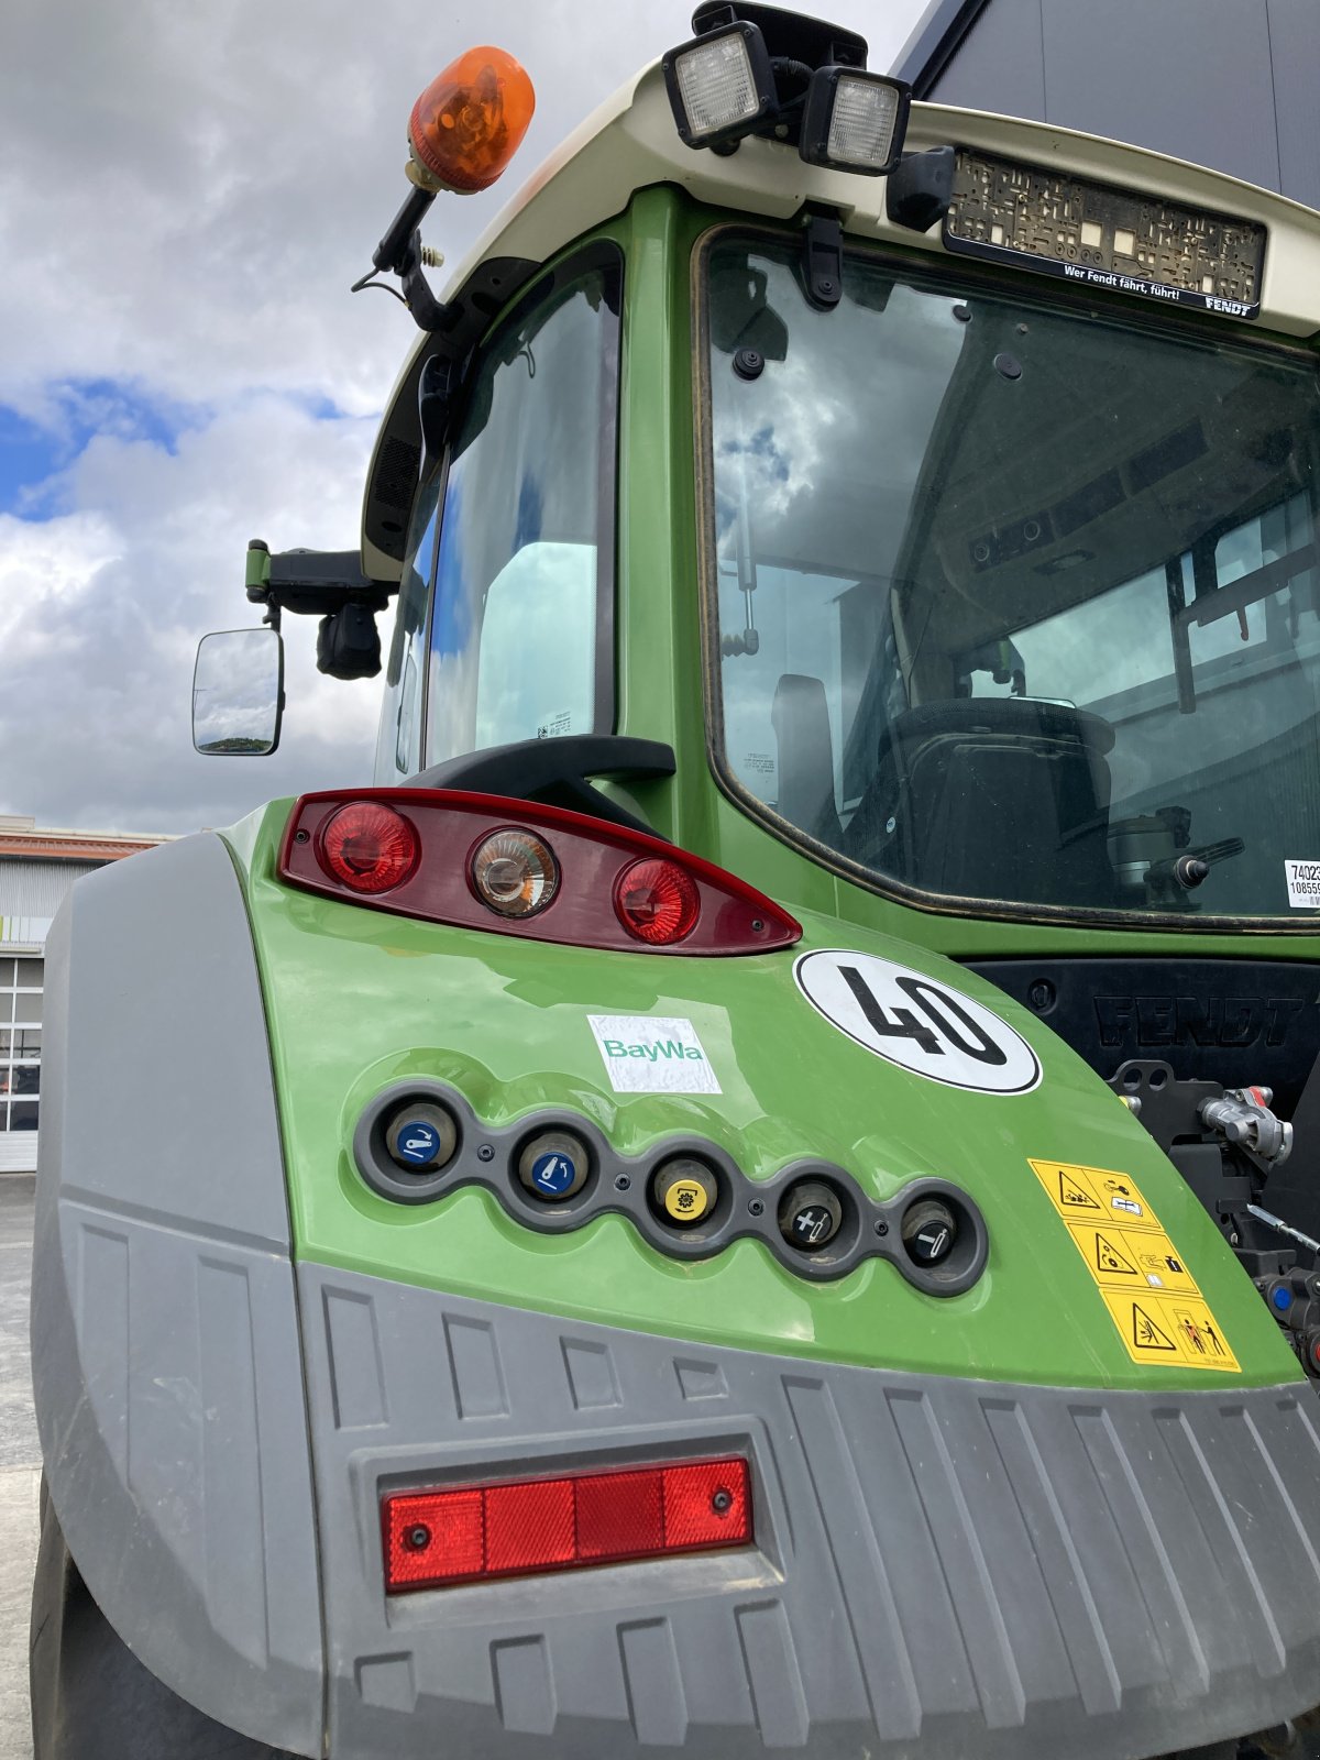
M825 947L803 954L794 975L832 1026L917 1075L986 1095L1021 1095L1040 1081L1037 1054L1021 1033L924 972Z

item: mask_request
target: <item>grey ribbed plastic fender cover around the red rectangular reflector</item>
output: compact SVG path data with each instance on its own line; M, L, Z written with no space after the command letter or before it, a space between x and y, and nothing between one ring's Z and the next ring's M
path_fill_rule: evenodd
M33 1378L74 1558L176 1693L336 1760L1126 1760L1320 1704L1308 1387L917 1378L294 1269L232 864L123 866L48 947ZM755 1549L384 1595L382 1484L734 1448Z

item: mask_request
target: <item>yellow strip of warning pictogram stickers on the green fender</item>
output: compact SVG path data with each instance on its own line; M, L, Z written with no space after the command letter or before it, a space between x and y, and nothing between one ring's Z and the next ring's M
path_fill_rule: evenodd
M1160 1218L1128 1174L1031 1162L1133 1362L1239 1369Z

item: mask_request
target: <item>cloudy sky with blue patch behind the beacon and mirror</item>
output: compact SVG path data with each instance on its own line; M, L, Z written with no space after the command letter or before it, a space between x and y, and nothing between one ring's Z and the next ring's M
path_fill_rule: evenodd
M588 0L590 5L590 0ZM887 67L922 0L829 0ZM500 42L539 107L505 188L436 202L456 262L690 0L5 0L0 55L0 813L188 831L370 778L378 681L289 620L268 760L192 752L197 637L255 621L250 537L357 542L412 320L348 296L407 194L405 127ZM444 280L444 276L440 276Z

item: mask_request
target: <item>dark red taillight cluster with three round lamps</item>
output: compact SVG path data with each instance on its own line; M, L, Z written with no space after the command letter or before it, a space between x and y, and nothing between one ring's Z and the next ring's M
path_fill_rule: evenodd
M280 876L405 917L574 947L752 954L803 933L762 892L660 838L459 790L306 794Z

